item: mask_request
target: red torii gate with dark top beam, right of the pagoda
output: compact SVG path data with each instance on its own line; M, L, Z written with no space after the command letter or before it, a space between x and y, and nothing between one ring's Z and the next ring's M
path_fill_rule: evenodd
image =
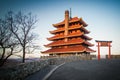
M108 59L110 59L110 57L111 57L111 43L112 43L112 41L100 41L100 40L95 40L97 43L98 43L98 45L97 45L97 47L98 47L98 60L100 60L100 47L108 47Z

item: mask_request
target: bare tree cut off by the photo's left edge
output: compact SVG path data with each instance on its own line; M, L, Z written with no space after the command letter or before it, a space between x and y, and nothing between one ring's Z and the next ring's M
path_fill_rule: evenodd
M7 20L0 19L0 66L13 54L13 49L17 44L12 35Z

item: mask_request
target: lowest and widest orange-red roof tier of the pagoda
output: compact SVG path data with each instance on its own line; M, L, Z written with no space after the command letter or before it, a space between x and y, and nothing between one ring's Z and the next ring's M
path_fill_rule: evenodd
M95 52L94 50L84 47L82 45L67 47L67 48L52 48L42 53L75 53L75 52Z

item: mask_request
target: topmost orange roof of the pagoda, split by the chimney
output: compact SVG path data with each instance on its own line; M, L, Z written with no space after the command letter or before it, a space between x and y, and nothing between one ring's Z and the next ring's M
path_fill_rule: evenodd
M82 20L82 18L78 18L78 17L73 17L69 20L69 23L72 23L72 22L77 22L79 21L80 23L83 24L84 27L87 26L87 24ZM59 25L64 25L65 24L65 20L60 22L60 23L57 23L57 24L53 24L54 27L58 27Z

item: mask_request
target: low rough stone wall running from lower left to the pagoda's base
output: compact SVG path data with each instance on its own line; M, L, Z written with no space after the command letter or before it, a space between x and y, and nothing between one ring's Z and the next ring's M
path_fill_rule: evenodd
M64 62L90 59L91 57L88 55L48 58L35 62L22 63L10 68L0 68L0 80L23 80L26 76L29 76L49 65L58 65Z

